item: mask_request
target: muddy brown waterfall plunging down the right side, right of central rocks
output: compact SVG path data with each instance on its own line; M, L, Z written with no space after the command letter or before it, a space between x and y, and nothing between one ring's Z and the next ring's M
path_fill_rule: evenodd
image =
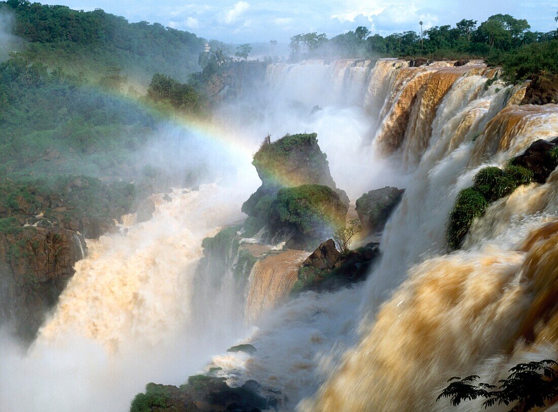
M517 106L525 89L485 87L492 70L397 70L374 144L402 153L415 176L365 286L359 342L300 410L445 411L436 397L449 377L484 371L496 383L558 352L556 171L490 204L462 250L445 251L459 190L480 167L558 136L558 106Z

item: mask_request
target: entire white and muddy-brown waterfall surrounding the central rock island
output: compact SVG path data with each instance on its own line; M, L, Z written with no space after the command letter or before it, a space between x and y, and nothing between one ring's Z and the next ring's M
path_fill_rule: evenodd
M155 195L152 220L123 217L126 233L88 244L27 355L7 348L4 406L126 410L147 382L180 385L214 355L229 384L256 379L288 398L286 410L441 412L451 409L436 403L451 376L494 383L518 362L556 358L558 172L490 203L460 250L446 248L448 215L479 169L558 136L558 106L519 105L526 86L493 81L498 70L395 59L268 65L266 99L219 112L249 150L266 133L318 132L353 201L406 188L367 281L293 298L308 253L267 248L239 288L238 244L223 267L196 273L204 237L246 217L242 178L175 189L171 201ZM225 352L237 341L257 352Z

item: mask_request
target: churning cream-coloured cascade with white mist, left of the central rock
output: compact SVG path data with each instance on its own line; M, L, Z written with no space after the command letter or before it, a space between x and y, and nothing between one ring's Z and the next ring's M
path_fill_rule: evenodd
M223 304L202 322L196 313L204 308L192 297L202 293L194 282L202 239L241 219L246 193L200 185L199 191L177 189L169 196L171 201L153 197L153 219L89 242L89 254L76 263L26 356L0 336L3 408L127 410L146 382L180 384L187 371L201 369L242 335L234 307ZM212 295L235 302L229 298L235 293L234 284L224 281ZM230 325L228 333L223 324Z

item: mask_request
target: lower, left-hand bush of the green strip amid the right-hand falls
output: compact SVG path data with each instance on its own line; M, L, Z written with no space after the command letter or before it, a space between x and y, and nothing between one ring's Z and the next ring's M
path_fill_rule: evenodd
M487 200L477 189L469 187L459 192L448 220L448 248L459 248L475 217L483 214Z

